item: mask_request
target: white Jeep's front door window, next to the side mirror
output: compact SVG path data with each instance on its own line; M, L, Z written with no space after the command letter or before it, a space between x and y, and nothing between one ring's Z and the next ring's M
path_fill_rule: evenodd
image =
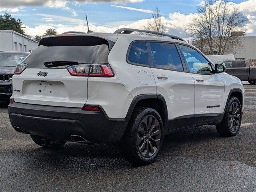
M182 53L188 63L188 68L192 73L211 74L212 66L199 52L188 46L180 45Z

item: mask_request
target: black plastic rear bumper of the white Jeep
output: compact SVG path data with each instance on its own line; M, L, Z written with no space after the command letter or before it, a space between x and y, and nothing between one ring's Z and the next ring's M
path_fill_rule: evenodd
M90 112L81 108L14 102L9 104L8 112L12 126L52 139L71 140L71 135L79 135L91 142L116 142L128 124L126 119L108 118L104 111Z

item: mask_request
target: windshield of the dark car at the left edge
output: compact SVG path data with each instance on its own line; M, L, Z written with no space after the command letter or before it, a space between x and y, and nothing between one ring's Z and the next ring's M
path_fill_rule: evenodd
M0 66L14 66L21 63L28 54L22 53L0 53Z

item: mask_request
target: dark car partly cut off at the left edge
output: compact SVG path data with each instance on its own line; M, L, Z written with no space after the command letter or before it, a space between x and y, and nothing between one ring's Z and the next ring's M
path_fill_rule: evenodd
M0 105L9 103L14 70L29 54L29 52L0 52Z

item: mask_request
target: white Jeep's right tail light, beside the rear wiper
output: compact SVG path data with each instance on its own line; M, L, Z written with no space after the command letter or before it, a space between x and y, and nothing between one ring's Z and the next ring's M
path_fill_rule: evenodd
M109 64L79 64L68 67L72 76L114 77Z

